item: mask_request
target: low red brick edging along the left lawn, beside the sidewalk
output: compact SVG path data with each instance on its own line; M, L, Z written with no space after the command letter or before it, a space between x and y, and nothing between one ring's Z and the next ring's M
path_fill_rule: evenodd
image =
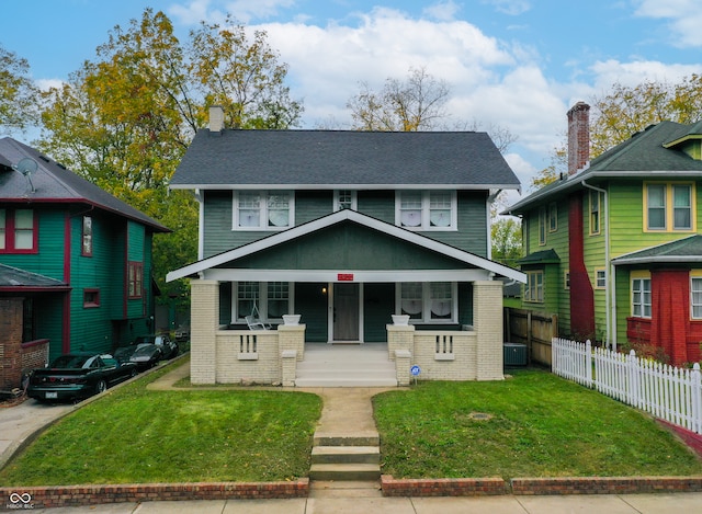
M182 500L257 500L307 498L309 479L291 482L145 483L121 486L3 487L0 511L9 499L31 498L35 509L97 505L123 502ZM25 509L29 509L25 507Z

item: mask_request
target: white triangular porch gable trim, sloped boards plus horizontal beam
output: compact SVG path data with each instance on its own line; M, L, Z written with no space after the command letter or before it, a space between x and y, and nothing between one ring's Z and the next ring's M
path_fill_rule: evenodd
M170 282L177 278L193 277L197 275L207 275L208 278L224 279L223 277L225 275L231 274L231 271L226 269L226 264L231 261L291 242L303 236L310 235L318 230L346 221L355 222L377 232L415 244L418 248L438 252L456 261L456 269L434 271L237 269L237 274L239 276L246 276L246 278L242 279L260 279L257 277L265 276L269 281L295 279L297 282L338 282L339 279L343 279L339 278L339 275L352 275L354 282L477 281L488 279L491 274L495 274L512 278L518 282L525 282L525 275L518 270L350 209L339 210L283 232L276 232L249 244L203 259L170 272L166 279L167 282Z

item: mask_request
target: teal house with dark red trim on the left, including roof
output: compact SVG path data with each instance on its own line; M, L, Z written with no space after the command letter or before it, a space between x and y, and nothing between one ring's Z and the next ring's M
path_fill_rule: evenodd
M50 358L111 352L154 331L151 242L167 231L35 149L0 139L4 358L46 342Z

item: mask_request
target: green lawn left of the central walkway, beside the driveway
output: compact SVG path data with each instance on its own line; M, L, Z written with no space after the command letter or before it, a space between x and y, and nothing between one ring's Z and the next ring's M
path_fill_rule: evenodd
M64 418L0 471L0 483L272 481L308 475L319 397L146 390L162 373Z

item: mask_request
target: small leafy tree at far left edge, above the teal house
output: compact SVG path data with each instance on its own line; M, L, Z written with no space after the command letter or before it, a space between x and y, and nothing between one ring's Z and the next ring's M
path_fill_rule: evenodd
M0 46L0 132L34 125L37 94L27 60Z

